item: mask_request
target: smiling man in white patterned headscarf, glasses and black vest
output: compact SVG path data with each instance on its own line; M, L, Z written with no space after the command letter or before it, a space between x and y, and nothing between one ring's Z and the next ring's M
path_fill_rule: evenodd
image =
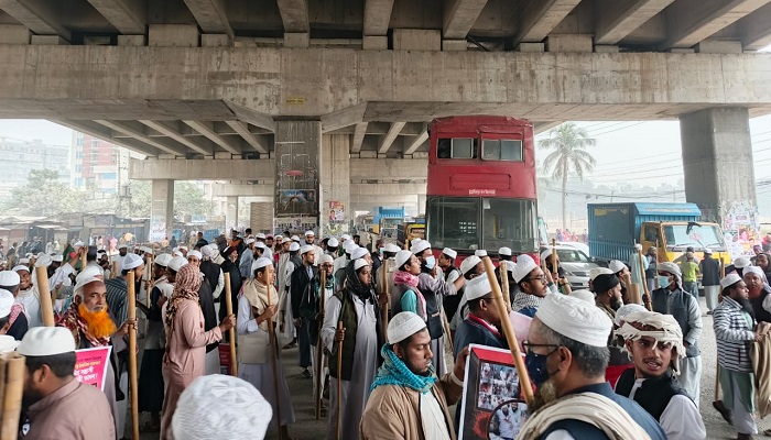
M621 373L616 393L640 404L659 421L667 438L705 439L702 415L675 377L685 353L677 321L670 315L633 312L625 317L616 334L623 339L634 362L633 369Z

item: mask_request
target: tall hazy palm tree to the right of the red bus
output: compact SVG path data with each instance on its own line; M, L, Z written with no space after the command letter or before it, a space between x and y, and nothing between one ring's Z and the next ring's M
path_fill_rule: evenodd
M596 143L588 138L586 130L573 122L564 123L549 132L549 139L540 142L544 150L554 150L544 160L544 170L553 180L562 179L562 228L567 227L566 199L567 176L573 173L584 178L584 173L591 172L596 161L587 147Z

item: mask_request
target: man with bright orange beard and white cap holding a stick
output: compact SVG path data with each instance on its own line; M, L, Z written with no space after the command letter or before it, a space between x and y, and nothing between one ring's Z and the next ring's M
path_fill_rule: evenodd
M105 372L107 376L105 395L111 405L115 431L122 435L127 414L124 396L128 389L128 374L124 365L128 343L124 337L130 327L137 326L137 321L127 320L120 329L117 329L108 312L107 287L98 268L87 267L75 282L73 304L62 316L57 326L65 327L72 332L76 350L112 345L113 354ZM116 358L123 359L120 362L120 369ZM116 375L116 371L121 372L120 376Z

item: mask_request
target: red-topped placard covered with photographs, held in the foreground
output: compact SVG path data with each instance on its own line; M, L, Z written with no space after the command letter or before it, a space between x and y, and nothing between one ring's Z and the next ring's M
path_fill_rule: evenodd
M458 439L514 439L526 415L511 352L469 345Z

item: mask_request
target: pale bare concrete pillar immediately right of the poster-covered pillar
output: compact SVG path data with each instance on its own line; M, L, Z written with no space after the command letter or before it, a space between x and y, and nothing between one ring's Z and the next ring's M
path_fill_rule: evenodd
M322 235L348 232L352 220L350 207L350 139L349 134L325 134L321 160L321 227Z

